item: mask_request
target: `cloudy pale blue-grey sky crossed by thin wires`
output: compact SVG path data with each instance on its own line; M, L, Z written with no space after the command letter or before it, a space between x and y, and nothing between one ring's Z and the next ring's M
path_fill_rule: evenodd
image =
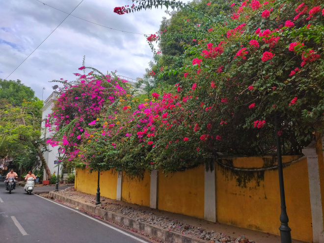
M40 0L70 13L81 0ZM186 0L185 2L188 2ZM72 15L120 30L155 33L165 9L152 9L125 15L113 13L116 6L130 0L83 0ZM7 76L66 18L67 14L37 0L0 0L0 78ZM30 86L45 100L54 83L75 79L73 73L85 65L102 72L117 70L118 75L142 77L152 52L144 35L126 33L94 25L69 16L8 78Z

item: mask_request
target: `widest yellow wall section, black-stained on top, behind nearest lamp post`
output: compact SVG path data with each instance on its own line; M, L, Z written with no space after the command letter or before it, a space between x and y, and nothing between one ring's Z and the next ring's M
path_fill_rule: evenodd
M283 156L283 162L297 159ZM235 167L267 167L271 157L233 159ZM229 160L223 161L224 163ZM307 160L283 169L287 214L292 238L312 242L312 217ZM280 235L280 193L278 170L233 172L216 164L218 222Z

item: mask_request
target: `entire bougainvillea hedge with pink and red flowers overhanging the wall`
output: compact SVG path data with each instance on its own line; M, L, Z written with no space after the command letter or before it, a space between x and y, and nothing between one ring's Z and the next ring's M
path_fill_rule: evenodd
M187 7L141 2L118 13L151 4ZM143 103L126 83L102 74L80 75L76 83L65 84L49 120L57 129L50 142L65 146L64 160L90 170L138 174L186 169L222 156L272 155L275 116L285 154L301 153L323 130L324 4L228 4L229 15L190 10L200 24L188 19L179 29L196 35L195 44L186 47L184 66L155 72L156 78L181 74L171 90L151 92ZM164 34L173 38L165 31L154 41Z

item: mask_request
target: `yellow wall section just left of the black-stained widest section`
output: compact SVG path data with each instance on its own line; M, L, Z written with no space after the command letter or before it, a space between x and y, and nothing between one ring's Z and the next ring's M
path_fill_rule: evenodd
M158 208L168 212L204 218L204 165L169 173L161 171L158 181Z

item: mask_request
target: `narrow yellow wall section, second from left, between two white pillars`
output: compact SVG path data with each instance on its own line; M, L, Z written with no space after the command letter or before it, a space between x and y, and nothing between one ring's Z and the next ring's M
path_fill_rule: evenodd
M148 171L144 178L133 178L125 175L122 177L122 200L138 205L150 206L151 176Z

